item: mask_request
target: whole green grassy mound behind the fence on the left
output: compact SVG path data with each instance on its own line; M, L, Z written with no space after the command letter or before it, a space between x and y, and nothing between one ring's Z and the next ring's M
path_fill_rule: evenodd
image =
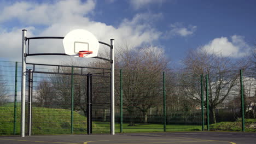
M71 111L66 109L51 109L33 107L32 134L71 134ZM14 105L13 103L0 106L0 135L14 134ZM86 134L86 117L74 112L73 133ZM104 133L108 129L92 123L92 129ZM16 134L20 134L20 104L17 107Z

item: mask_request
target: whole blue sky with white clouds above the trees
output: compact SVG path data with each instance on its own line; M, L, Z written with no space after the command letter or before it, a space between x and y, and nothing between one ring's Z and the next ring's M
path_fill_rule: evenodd
M98 40L130 48L154 46L178 64L189 49L241 58L256 39L254 0L38 0L0 1L0 61L21 61L22 29L28 37L64 37L86 29ZM158 50L155 49L155 50ZM101 49L100 49L101 50ZM63 53L62 41L31 42L31 52ZM33 56L59 63L63 56Z

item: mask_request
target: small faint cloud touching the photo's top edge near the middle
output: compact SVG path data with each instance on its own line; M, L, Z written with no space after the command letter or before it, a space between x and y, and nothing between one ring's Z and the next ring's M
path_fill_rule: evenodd
M162 0L131 0L130 4L132 6L133 9L140 9L143 7L146 7L149 4L153 4L153 3L162 3Z

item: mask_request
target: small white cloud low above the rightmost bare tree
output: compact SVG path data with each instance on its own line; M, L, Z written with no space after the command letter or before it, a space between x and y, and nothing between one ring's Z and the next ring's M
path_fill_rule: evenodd
M231 41L227 37L215 38L210 43L204 45L202 50L215 55L224 57L242 57L249 54L249 45L245 42L244 37L232 35Z

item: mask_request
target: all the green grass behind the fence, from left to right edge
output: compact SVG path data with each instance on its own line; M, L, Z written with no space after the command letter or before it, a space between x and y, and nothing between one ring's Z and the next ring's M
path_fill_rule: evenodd
M0 135L13 135L14 104L0 106ZM32 134L71 134L71 111L66 109L52 109L33 107ZM74 112L73 133L86 134L86 117ZM205 126L206 128L206 126ZM166 131L200 131L201 125L166 125ZM220 122L210 125L210 130L241 131L241 119L236 122ZM120 132L120 124L115 124L115 131ZM162 124L123 124L123 133L162 132ZM246 131L256 131L256 119L246 119ZM109 133L109 122L93 122L92 133ZM16 134L20 133L20 103L17 106Z

